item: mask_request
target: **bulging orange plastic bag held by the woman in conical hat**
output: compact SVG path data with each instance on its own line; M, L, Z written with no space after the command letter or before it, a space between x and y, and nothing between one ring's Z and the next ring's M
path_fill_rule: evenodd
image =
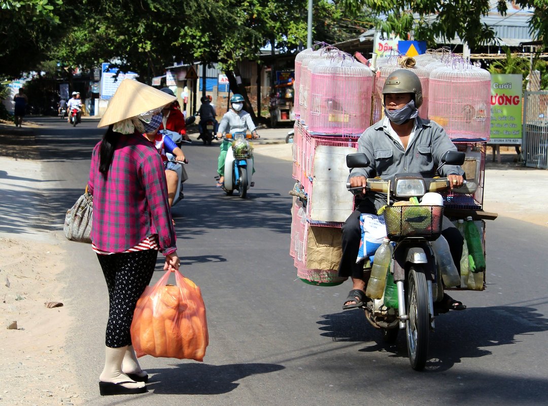
M137 301L131 327L138 357L186 358L203 361L209 335L200 288L175 271L177 286L168 285L171 271L147 286Z

